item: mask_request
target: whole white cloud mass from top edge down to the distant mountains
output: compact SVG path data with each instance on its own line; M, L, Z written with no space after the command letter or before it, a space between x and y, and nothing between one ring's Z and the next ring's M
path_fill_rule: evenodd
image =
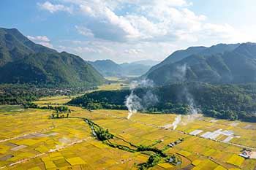
M69 12L67 8L72 7L69 13L83 20L74 26L87 39L63 42L59 49L90 60L162 60L189 46L245 42L256 37L253 29L243 32L228 24L211 23L207 16L192 11L189 0L58 1L55 5L46 1L45 9Z

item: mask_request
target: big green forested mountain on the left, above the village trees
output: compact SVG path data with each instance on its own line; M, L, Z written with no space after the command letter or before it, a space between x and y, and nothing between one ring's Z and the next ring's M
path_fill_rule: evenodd
M0 28L0 72L0 83L80 86L105 81L77 55L37 45L15 28Z

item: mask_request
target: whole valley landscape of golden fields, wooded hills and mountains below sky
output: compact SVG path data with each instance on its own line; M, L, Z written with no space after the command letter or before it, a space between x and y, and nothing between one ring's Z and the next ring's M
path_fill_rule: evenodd
M0 40L0 169L256 169L255 43L117 64Z

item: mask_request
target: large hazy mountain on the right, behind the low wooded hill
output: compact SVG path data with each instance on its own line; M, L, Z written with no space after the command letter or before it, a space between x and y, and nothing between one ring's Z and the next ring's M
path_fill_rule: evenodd
M256 44L212 46L180 61L159 66L146 77L157 85L179 81L256 82Z

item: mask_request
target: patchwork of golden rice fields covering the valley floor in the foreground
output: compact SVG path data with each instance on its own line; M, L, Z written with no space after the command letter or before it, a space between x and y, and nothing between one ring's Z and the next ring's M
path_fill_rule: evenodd
M37 104L63 104L70 98L42 98ZM141 152L118 150L94 139L86 117L112 134L133 144L154 144L163 149L184 138L184 142L168 147L167 154L181 159L181 166L161 162L151 169L252 169L255 159L244 159L238 154L243 147L256 147L256 123L214 120L211 117L185 117L175 131L162 128L173 123L176 115L148 115L137 113L127 120L127 111L95 110L70 107L71 117L49 119L51 110L0 107L0 169L138 169L148 155ZM72 118L73 117L73 118ZM196 136L192 131L201 130ZM222 142L200 137L207 131L233 131L238 136Z

